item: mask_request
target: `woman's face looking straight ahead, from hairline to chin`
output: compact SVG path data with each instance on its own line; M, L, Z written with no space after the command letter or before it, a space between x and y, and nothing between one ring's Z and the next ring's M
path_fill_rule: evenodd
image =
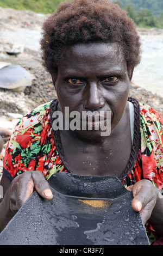
M69 113L78 111L81 117L82 112L87 111L110 112L111 130L120 122L126 109L130 80L118 44L94 42L71 46L58 66L57 79L53 75L52 78L64 115L65 107ZM99 126L95 120L92 124ZM99 129L77 132L84 138L101 136Z

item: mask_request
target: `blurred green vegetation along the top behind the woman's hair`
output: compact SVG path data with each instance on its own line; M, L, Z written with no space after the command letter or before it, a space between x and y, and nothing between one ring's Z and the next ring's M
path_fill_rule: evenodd
M36 13L50 14L65 0L0 0L0 7L17 10L33 10ZM67 0L71 1L71 0ZM110 0L117 3L135 25L145 28L163 28L163 0Z

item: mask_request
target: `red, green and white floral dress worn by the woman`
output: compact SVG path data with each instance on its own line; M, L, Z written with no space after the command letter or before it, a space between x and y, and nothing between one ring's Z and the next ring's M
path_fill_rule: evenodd
M162 190L163 119L151 107L131 97L128 101L134 104L134 139L130 160L118 178L125 187L148 179ZM71 172L62 153L59 131L52 129L57 105L58 100L47 102L18 121L3 160L3 173L10 181L28 170L40 170L47 180L54 173ZM151 243L158 239L148 222L146 230Z

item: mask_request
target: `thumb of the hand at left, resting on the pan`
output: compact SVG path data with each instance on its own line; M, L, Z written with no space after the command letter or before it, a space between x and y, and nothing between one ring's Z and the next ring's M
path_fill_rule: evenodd
M43 173L39 170L35 170L34 172L32 172L32 178L35 190L40 194L40 196L45 199L52 199L53 193Z

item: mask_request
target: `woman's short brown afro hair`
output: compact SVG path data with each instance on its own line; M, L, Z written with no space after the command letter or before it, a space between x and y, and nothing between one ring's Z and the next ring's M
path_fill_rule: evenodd
M59 5L42 26L42 64L57 73L65 47L86 42L117 42L127 68L140 63L140 36L126 11L108 0L73 0Z

